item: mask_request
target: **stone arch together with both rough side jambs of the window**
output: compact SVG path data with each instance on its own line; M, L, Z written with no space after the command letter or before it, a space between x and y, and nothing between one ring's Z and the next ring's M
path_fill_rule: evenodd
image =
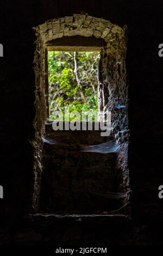
M128 87L126 83L126 26L121 28L103 18L88 14L74 14L59 19L48 20L34 28L36 33L36 51L34 58L35 70L35 108L34 121L35 139L35 191L34 207L37 208L39 199L39 184L41 180L42 139L45 133L47 118L47 80L46 54L49 41L65 38L66 36L84 36L103 39L105 46L101 48L98 75L98 104L99 109L106 113L111 111L112 137L120 141L117 169L122 172L123 188L129 190L127 168L128 149ZM122 184L121 184L122 185Z

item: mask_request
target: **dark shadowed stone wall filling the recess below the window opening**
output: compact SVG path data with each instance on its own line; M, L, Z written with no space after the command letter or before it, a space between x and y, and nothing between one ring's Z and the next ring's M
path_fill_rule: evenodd
M85 145L108 141L101 131L54 131L48 124L46 135L40 212L90 214L122 207L122 198L110 196L118 192L117 152L83 151Z

